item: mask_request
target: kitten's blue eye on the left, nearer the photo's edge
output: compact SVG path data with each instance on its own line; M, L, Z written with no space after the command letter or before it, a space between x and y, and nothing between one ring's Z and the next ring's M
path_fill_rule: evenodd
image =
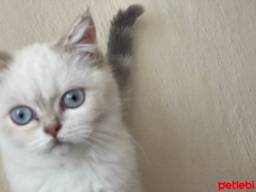
M28 124L34 118L32 109L26 106L18 106L13 108L10 115L12 121L18 125Z

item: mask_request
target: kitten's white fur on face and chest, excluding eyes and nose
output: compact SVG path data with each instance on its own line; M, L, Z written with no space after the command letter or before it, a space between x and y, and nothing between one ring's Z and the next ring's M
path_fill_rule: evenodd
M0 81L0 147L13 192L141 191L132 138L104 60L34 44L15 52ZM85 89L84 103L62 111L62 95L76 87ZM35 110L39 121L14 124L9 111L17 105ZM55 117L62 124L58 139L68 143L57 147L43 131Z

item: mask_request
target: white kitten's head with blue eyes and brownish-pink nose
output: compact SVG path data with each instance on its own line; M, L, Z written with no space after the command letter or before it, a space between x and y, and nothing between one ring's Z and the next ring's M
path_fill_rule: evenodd
M44 153L87 143L119 105L88 12L52 44L0 53L0 134L16 147Z

